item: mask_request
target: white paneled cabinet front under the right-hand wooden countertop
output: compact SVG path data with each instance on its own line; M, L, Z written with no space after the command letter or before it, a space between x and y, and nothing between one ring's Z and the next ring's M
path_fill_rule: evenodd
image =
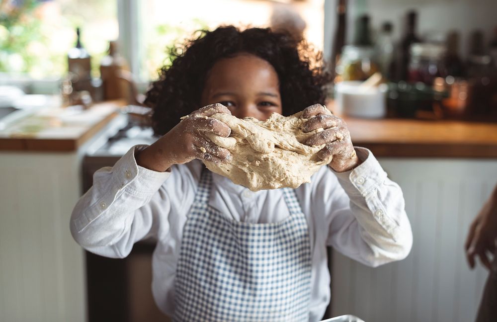
M399 183L414 244L403 261L366 267L332 258L332 315L366 322L474 321L487 272L470 270L469 225L497 183L495 160L381 159Z

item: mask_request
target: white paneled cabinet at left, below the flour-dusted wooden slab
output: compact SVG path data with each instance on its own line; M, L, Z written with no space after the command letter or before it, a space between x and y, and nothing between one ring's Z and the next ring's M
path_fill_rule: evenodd
M78 151L0 151L0 322L85 322L84 252L69 220L85 151L126 124L114 118Z

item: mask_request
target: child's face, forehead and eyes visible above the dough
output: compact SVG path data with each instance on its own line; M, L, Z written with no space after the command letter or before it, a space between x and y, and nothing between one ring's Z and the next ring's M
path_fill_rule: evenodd
M282 111L278 75L267 61L254 55L222 59L207 75L201 103L221 103L238 118L264 121Z

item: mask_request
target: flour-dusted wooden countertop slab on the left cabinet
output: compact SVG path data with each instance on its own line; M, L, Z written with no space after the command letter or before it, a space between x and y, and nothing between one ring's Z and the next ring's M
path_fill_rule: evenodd
M117 116L124 101L97 103L91 108L46 108L0 130L0 151L77 151Z

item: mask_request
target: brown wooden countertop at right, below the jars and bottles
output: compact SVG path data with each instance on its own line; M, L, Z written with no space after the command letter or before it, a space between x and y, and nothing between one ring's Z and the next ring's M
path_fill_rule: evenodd
M497 158L497 123L343 118L376 157Z

